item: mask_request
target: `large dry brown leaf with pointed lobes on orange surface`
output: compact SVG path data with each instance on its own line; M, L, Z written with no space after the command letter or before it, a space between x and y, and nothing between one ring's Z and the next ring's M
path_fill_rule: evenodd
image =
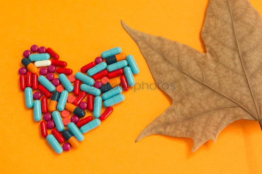
M137 43L156 82L172 105L137 137L152 134L189 137L192 152L239 119L258 120L262 112L261 17L248 0L210 0L202 28L207 53L160 36L122 26Z

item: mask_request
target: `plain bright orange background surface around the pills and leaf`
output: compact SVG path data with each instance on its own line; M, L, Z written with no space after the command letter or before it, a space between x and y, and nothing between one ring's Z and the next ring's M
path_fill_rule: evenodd
M140 67L136 82L154 83L120 21L205 52L200 32L208 2L1 0L1 173L261 172L262 133L257 121L228 125L216 143L209 140L194 153L190 138L152 135L135 143L140 131L171 105L161 90L123 92L125 101L114 106L99 127L84 134L78 149L58 155L41 137L39 122L25 107L19 89L22 53L32 44L53 48L74 73L102 51L120 46ZM251 3L261 14L262 1Z

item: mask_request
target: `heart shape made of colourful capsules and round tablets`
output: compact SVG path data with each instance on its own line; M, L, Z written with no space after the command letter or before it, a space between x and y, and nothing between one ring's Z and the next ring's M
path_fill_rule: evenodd
M112 106L124 101L122 90L135 85L133 74L139 73L137 63L132 55L121 52L120 47L104 51L74 75L72 69L66 68L67 62L60 60L51 48L32 45L31 51L24 51L21 63L25 67L19 69L20 89L25 93L26 107L34 108L34 120L43 118L41 135L56 153L68 151L71 146L78 148L84 140L83 134L99 126L113 112ZM38 67L42 67L40 74ZM58 78L54 78L55 72ZM107 108L101 114L103 100ZM93 111L94 118L86 116L86 109ZM69 118L70 112L75 115ZM47 129L52 129L51 134L48 135Z

